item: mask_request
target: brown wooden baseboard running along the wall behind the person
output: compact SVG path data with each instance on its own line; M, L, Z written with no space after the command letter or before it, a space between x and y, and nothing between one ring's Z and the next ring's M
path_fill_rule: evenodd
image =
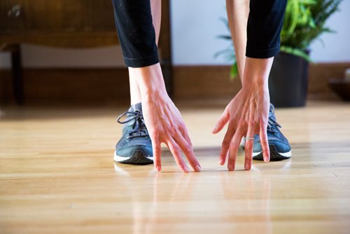
M311 64L309 97L334 99L329 78L344 77L350 62ZM229 99L241 88L229 66L173 68L174 99ZM127 69L24 69L25 98L35 103L127 103ZM0 103L14 103L10 70L0 70Z

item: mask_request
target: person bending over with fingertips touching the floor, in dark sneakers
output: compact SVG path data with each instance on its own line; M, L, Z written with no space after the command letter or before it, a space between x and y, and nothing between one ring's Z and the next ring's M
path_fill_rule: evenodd
M201 167L193 152L188 130L179 109L167 95L158 59L161 0L112 0L116 28L129 69L130 109L118 122L123 123L123 137L116 144L114 160L119 163L154 163L162 170L161 148L167 144L183 170ZM269 103L268 77L274 56L279 53L280 33L286 0L227 0L228 21L235 46L241 90L226 106L214 127L220 132L228 124L219 163L227 161L235 170L235 160L244 137L245 170L253 159L290 158L290 146L282 135ZM125 116L125 120L121 119Z

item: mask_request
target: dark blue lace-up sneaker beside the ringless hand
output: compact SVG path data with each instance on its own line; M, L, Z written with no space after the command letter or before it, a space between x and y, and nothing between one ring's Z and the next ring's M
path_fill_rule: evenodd
M125 121L120 121L124 116ZM130 106L118 117L118 123L123 124L123 137L116 144L114 160L139 165L153 163L152 142L142 115L141 103Z

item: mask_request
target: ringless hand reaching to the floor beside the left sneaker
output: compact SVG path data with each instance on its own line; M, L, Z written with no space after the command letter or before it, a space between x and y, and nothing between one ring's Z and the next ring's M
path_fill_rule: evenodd
M183 172L187 173L189 169L181 156L181 151L193 170L200 172L200 163L195 158L188 130L179 109L167 95L159 64L143 67L141 71L143 72L137 77L142 112L152 140L155 169L162 170L160 145L165 143Z

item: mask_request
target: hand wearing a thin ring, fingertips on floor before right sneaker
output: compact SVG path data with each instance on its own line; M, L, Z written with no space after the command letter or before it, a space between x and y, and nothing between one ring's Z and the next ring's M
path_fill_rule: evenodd
M245 170L251 169L253 138L260 136L264 161L269 161L267 122L269 116L269 89L267 78L272 60L246 60L244 82L236 97L226 106L213 133L220 132L228 123L220 153L219 164L224 165L228 156L228 170L235 170L235 161L242 137L245 142ZM253 67L253 68L252 68Z

